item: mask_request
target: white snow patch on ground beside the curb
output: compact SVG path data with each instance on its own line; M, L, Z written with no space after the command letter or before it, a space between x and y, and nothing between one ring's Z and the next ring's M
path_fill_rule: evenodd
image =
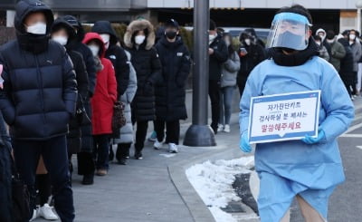
M251 172L253 161L253 157L222 159L215 162L206 161L186 169L187 179L210 209L217 222L236 222L235 218L220 208L225 208L231 201L240 200L233 191L232 184L235 175Z

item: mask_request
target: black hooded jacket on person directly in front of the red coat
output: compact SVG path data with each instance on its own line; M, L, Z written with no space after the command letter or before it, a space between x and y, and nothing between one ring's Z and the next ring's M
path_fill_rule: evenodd
M78 30L77 37L74 40L71 40L71 42L68 43L66 47L68 49L81 53L81 56L83 57L85 63L85 67L87 68L89 81L88 91L89 96L91 97L94 94L94 90L96 88L97 72L96 64L94 63L93 55L90 51L90 48L87 45L81 43L85 34L84 29L81 26L81 23L72 15L65 15L62 17L62 19L76 27Z

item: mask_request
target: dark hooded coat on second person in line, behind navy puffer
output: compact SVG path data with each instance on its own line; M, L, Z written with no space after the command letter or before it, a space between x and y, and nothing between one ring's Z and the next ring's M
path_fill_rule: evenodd
M76 38L73 27L67 21L62 18L58 18L52 24L52 33L57 32L60 29L65 29L68 34L68 43L65 45L67 53L71 58L73 63L74 71L76 73L77 80L77 89L78 89L78 101L77 101L77 110L83 108L83 101L88 97L89 92L89 81L88 73L83 61L83 56L81 53L73 51L71 44ZM68 141L68 152L77 153L81 150L81 122L77 117L72 117L69 122L69 133L67 135Z

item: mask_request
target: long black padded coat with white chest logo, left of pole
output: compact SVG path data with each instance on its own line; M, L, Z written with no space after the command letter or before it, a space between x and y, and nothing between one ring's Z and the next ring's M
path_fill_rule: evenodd
M175 43L166 37L156 45L162 63L162 81L156 84L157 120L186 120L186 80L190 73L190 54L181 38Z

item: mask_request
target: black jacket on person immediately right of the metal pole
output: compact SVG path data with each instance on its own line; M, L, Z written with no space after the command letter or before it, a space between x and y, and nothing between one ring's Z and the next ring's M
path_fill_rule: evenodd
M229 58L229 52L221 35L217 35L209 47L214 49L214 53L210 55L209 61L209 80L220 81L221 68L223 63Z

